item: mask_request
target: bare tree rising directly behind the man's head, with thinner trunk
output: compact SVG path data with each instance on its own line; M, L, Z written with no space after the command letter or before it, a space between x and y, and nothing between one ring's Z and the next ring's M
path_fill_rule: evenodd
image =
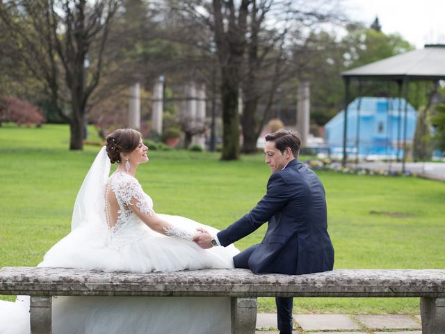
M270 109L280 104L286 90L295 89L295 79L302 79L300 62L293 49L306 49L312 31L327 22L341 24L337 1L252 0L248 16L248 38L243 66L243 148L244 153L257 152L257 138L270 117ZM320 53L313 49L312 53ZM259 108L261 106L261 108ZM260 110L261 109L261 110Z

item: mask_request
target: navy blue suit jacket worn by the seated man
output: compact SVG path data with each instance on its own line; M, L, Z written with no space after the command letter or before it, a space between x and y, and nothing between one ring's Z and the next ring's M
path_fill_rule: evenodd
M254 273L332 270L334 248L327 234L325 189L298 159L270 176L266 195L252 211L218 232L220 244L232 244L266 221L266 235L248 262Z

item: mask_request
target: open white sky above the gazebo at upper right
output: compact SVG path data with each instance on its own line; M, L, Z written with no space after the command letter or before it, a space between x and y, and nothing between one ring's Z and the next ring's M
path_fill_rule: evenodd
M445 0L343 0L350 19L371 24L376 16L384 33L400 33L422 49L445 44Z

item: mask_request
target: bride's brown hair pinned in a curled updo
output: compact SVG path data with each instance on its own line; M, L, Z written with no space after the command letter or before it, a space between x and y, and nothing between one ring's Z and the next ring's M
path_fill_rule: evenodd
M138 147L142 135L134 129L117 129L106 137L106 153L111 164L120 164L120 153L131 153Z

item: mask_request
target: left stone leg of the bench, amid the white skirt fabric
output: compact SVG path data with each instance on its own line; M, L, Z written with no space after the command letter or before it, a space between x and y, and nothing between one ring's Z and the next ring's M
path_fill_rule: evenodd
M31 334L51 334L51 297L31 296Z

